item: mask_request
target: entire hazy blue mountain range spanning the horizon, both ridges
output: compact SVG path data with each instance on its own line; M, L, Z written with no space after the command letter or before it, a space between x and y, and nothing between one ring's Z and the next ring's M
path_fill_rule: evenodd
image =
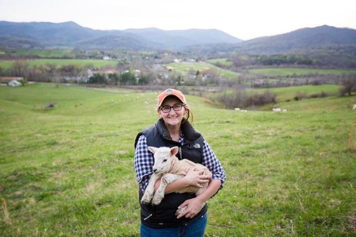
M177 50L199 52L282 53L318 47L356 47L356 30L319 26L290 33L240 40L216 29L157 28L93 30L75 22L0 21L1 48L77 47L99 50ZM353 53L355 54L355 52Z

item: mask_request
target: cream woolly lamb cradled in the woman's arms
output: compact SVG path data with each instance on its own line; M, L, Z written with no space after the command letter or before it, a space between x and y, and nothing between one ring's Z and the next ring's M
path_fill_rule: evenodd
M148 204L151 200L153 205L158 205L161 203L162 199L164 198L166 186L171 184L173 181L184 177L191 167L195 167L196 170L204 169L204 173L202 175L209 176L209 180L211 180L213 176L209 169L202 164L194 163L188 159L179 160L176 157L176 154L179 150L178 147L148 147L148 150L154 154L155 162L153 165L153 174L150 177L147 188L141 199L142 204ZM154 185L160 178L161 184L156 193L153 195ZM203 193L203 191L208 187L208 184L209 183L202 183L201 185L203 188L192 185L187 186L183 189L177 190L176 193L194 193L196 196L198 196L199 194ZM204 207L205 204L206 202L200 206L200 210ZM176 215L178 216L185 209L186 208L178 209Z

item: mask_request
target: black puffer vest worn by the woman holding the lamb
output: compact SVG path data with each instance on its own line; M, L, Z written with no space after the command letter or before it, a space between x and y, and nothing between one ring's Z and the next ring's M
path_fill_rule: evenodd
M181 146L180 143L173 141L170 133L164 125L163 119L159 119L155 124L139 132L136 136L135 147L138 138L144 134L147 138L147 145L153 147L179 147L179 152L176 155L178 159L186 158L195 163L202 163L203 159L203 136L196 131L193 126L183 118L180 126L185 141ZM139 189L139 200L141 200L143 192ZM166 194L159 205L152 206L151 204L141 205L141 222L150 228L169 228L189 225L199 219L207 212L205 206L194 218L181 217L177 219L175 215L178 206L185 200L194 198L194 194Z

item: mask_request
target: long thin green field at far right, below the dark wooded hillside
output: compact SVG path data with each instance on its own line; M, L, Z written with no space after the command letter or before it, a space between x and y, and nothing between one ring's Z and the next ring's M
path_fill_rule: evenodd
M269 77L286 77L300 75L343 75L356 74L356 70L310 69L310 68L261 68L249 69L250 73L268 75Z

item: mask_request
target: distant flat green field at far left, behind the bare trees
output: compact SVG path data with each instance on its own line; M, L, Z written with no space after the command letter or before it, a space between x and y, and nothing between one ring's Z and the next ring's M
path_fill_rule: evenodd
M9 69L12 64L13 60L0 60L0 67L2 70ZM57 65L57 68L60 68L61 66L65 65L70 65L70 64L77 64L80 65L81 67L87 66L89 64L92 64L93 67L97 68L115 68L117 62L115 61L107 61L107 60L101 60L101 59L35 59L35 60L27 60L29 63L30 67L33 66L39 66L39 65L45 65L45 64L55 64Z

